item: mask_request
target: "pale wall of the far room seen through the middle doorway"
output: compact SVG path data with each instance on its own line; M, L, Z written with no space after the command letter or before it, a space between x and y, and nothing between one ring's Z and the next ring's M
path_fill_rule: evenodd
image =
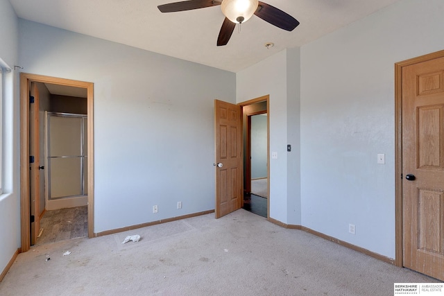
M267 119L264 115L251 116L251 178L266 178L267 171Z

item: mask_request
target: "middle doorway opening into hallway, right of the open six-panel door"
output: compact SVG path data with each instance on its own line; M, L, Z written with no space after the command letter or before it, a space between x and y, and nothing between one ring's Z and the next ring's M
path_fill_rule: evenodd
M243 208L268 218L268 96L241 103L244 134Z

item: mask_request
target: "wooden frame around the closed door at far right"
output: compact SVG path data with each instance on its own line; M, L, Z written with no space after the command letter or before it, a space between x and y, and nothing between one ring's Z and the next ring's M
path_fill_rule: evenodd
M402 191L402 69L412 64L444 58L444 50L395 63L395 265L403 262Z

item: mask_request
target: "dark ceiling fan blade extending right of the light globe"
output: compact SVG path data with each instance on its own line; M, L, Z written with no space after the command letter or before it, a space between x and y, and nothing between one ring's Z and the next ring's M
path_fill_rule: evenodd
M283 12L274 6L261 1L259 1L259 6L257 6L255 15L264 19L264 21L268 21L268 23L287 31L293 31L294 28L299 25L299 21L287 12Z

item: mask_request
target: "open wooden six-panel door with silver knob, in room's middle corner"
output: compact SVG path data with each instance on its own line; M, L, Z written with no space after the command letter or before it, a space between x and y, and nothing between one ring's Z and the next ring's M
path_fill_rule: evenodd
M241 107L214 100L216 218L241 208L243 154Z

